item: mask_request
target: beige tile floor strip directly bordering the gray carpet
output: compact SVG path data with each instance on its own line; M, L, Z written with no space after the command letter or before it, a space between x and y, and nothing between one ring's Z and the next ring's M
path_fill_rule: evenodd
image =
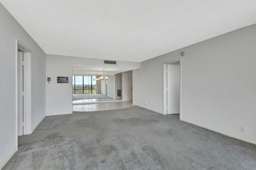
M102 102L73 105L73 111L104 111L132 107L132 101Z

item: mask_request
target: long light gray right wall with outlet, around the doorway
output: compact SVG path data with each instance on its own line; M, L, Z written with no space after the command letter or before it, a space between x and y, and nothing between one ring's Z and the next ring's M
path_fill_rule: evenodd
M182 58L181 119L256 144L255 47L251 25L144 61L133 70L133 104L163 113L162 63Z

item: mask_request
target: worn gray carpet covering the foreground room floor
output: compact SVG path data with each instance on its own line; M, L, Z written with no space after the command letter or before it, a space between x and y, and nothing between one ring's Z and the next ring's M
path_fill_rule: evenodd
M256 169L256 145L137 106L48 116L42 124L19 138L3 170Z

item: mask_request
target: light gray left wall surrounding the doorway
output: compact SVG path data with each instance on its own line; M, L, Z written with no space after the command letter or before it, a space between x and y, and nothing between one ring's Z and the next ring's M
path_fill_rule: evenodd
M16 151L16 39L31 52L31 127L46 115L45 53L0 4L0 169Z

